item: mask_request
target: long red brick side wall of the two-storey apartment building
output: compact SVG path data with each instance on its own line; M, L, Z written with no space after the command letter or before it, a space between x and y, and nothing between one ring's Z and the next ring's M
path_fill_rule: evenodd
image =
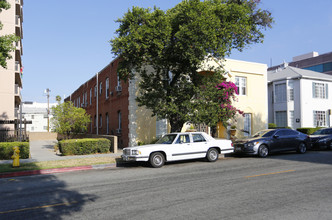
M161 129L149 110L137 106L138 81L120 80L118 63L119 59L114 59L64 101L71 101L90 115L88 133L115 135L120 148L150 142L166 133L165 126Z

